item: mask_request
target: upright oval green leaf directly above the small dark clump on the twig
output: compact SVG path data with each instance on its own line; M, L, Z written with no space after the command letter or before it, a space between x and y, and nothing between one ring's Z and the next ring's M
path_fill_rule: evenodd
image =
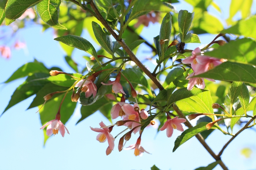
M194 18L194 12L190 13L187 10L180 10L178 14L178 25L180 30L181 42L185 42L186 35Z

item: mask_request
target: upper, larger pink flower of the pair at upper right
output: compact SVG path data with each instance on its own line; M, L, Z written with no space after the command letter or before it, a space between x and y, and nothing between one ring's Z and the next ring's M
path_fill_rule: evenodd
M201 50L199 47L197 47L195 50L192 51L192 56L189 56L186 59L182 60L182 63L191 64L195 75L199 75L208 70L211 70L222 62L220 61L220 59L201 55Z

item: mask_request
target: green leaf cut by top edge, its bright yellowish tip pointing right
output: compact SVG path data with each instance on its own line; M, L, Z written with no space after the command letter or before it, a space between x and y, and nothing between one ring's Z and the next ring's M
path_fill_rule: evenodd
M133 5L129 19L126 22L129 23L136 17L144 15L150 11L170 12L172 11L172 8L167 7L160 0L137 0Z

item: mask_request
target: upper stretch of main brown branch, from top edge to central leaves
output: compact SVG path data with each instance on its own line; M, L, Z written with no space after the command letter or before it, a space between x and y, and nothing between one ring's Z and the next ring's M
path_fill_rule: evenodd
M111 35L118 41L118 43L123 47L123 49L127 52L127 54L130 56L131 60L155 83L155 85L159 88L159 90L163 90L162 84L158 81L158 79L147 70L147 68L140 62L140 60L133 54L133 52L130 50L130 48L124 43L122 39L118 39L118 35L114 30L109 26L109 24L103 19L101 14L99 13L97 7L93 3L93 1L90 2L91 8L95 12L97 19L104 25L104 27L111 33Z

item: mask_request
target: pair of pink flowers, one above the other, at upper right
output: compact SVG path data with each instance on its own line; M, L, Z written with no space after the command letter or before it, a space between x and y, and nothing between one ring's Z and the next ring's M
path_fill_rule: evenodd
M189 75L186 79L189 79L188 82L188 90L192 90L192 88L196 85L196 87L204 89L205 83L204 78L191 78L195 75L202 74L208 70L211 70L212 68L218 66L222 62L220 59L205 56L201 54L201 50L199 47L197 47L195 50L192 51L192 56L182 60L183 64L191 64L191 67L193 69L193 73ZM208 79L212 82L215 82L214 79Z

